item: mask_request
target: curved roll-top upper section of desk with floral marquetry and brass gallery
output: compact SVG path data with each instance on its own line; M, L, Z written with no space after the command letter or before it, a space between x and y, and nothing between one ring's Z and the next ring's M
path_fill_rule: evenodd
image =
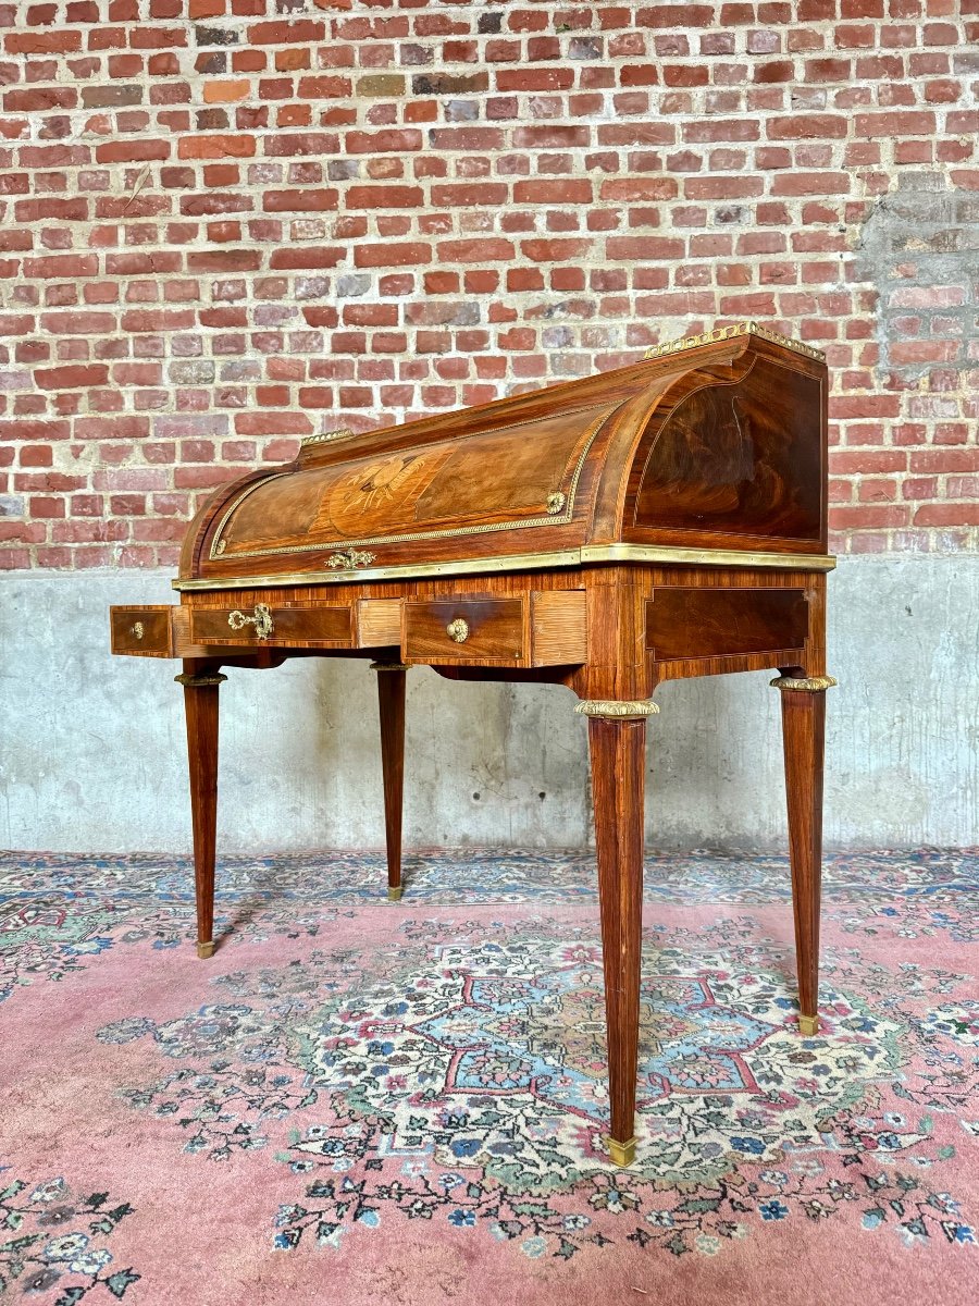
M495 404L324 431L218 491L178 584L625 560L828 569L825 389L817 351L743 323Z

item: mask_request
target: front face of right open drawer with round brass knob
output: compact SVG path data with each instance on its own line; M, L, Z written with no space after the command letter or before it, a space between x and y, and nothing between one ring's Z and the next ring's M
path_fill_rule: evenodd
M406 662L523 663L523 598L436 598L405 605Z

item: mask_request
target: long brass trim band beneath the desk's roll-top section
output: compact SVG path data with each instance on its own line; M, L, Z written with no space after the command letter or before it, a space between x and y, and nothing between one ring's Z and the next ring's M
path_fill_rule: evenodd
M582 545L546 554L509 554L495 558L463 558L444 563L401 563L394 567L363 567L356 572L279 572L278 575L176 579L176 590L268 589L278 585L362 584L373 580L411 580L426 576L471 576L479 572L539 571L546 567L581 567L587 563L647 563L664 567L770 567L778 571L829 572L837 565L831 554L766 554L739 549L670 549L658 545Z

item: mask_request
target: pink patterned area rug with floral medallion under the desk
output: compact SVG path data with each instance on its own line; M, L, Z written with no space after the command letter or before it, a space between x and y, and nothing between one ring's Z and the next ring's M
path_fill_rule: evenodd
M590 857L0 857L0 1298L979 1299L979 853L647 861L638 1155L604 1158Z

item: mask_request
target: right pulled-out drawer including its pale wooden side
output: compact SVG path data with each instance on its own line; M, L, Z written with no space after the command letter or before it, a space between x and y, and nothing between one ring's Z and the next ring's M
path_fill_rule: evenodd
M587 656L583 590L412 601L403 619L406 662L573 666Z

